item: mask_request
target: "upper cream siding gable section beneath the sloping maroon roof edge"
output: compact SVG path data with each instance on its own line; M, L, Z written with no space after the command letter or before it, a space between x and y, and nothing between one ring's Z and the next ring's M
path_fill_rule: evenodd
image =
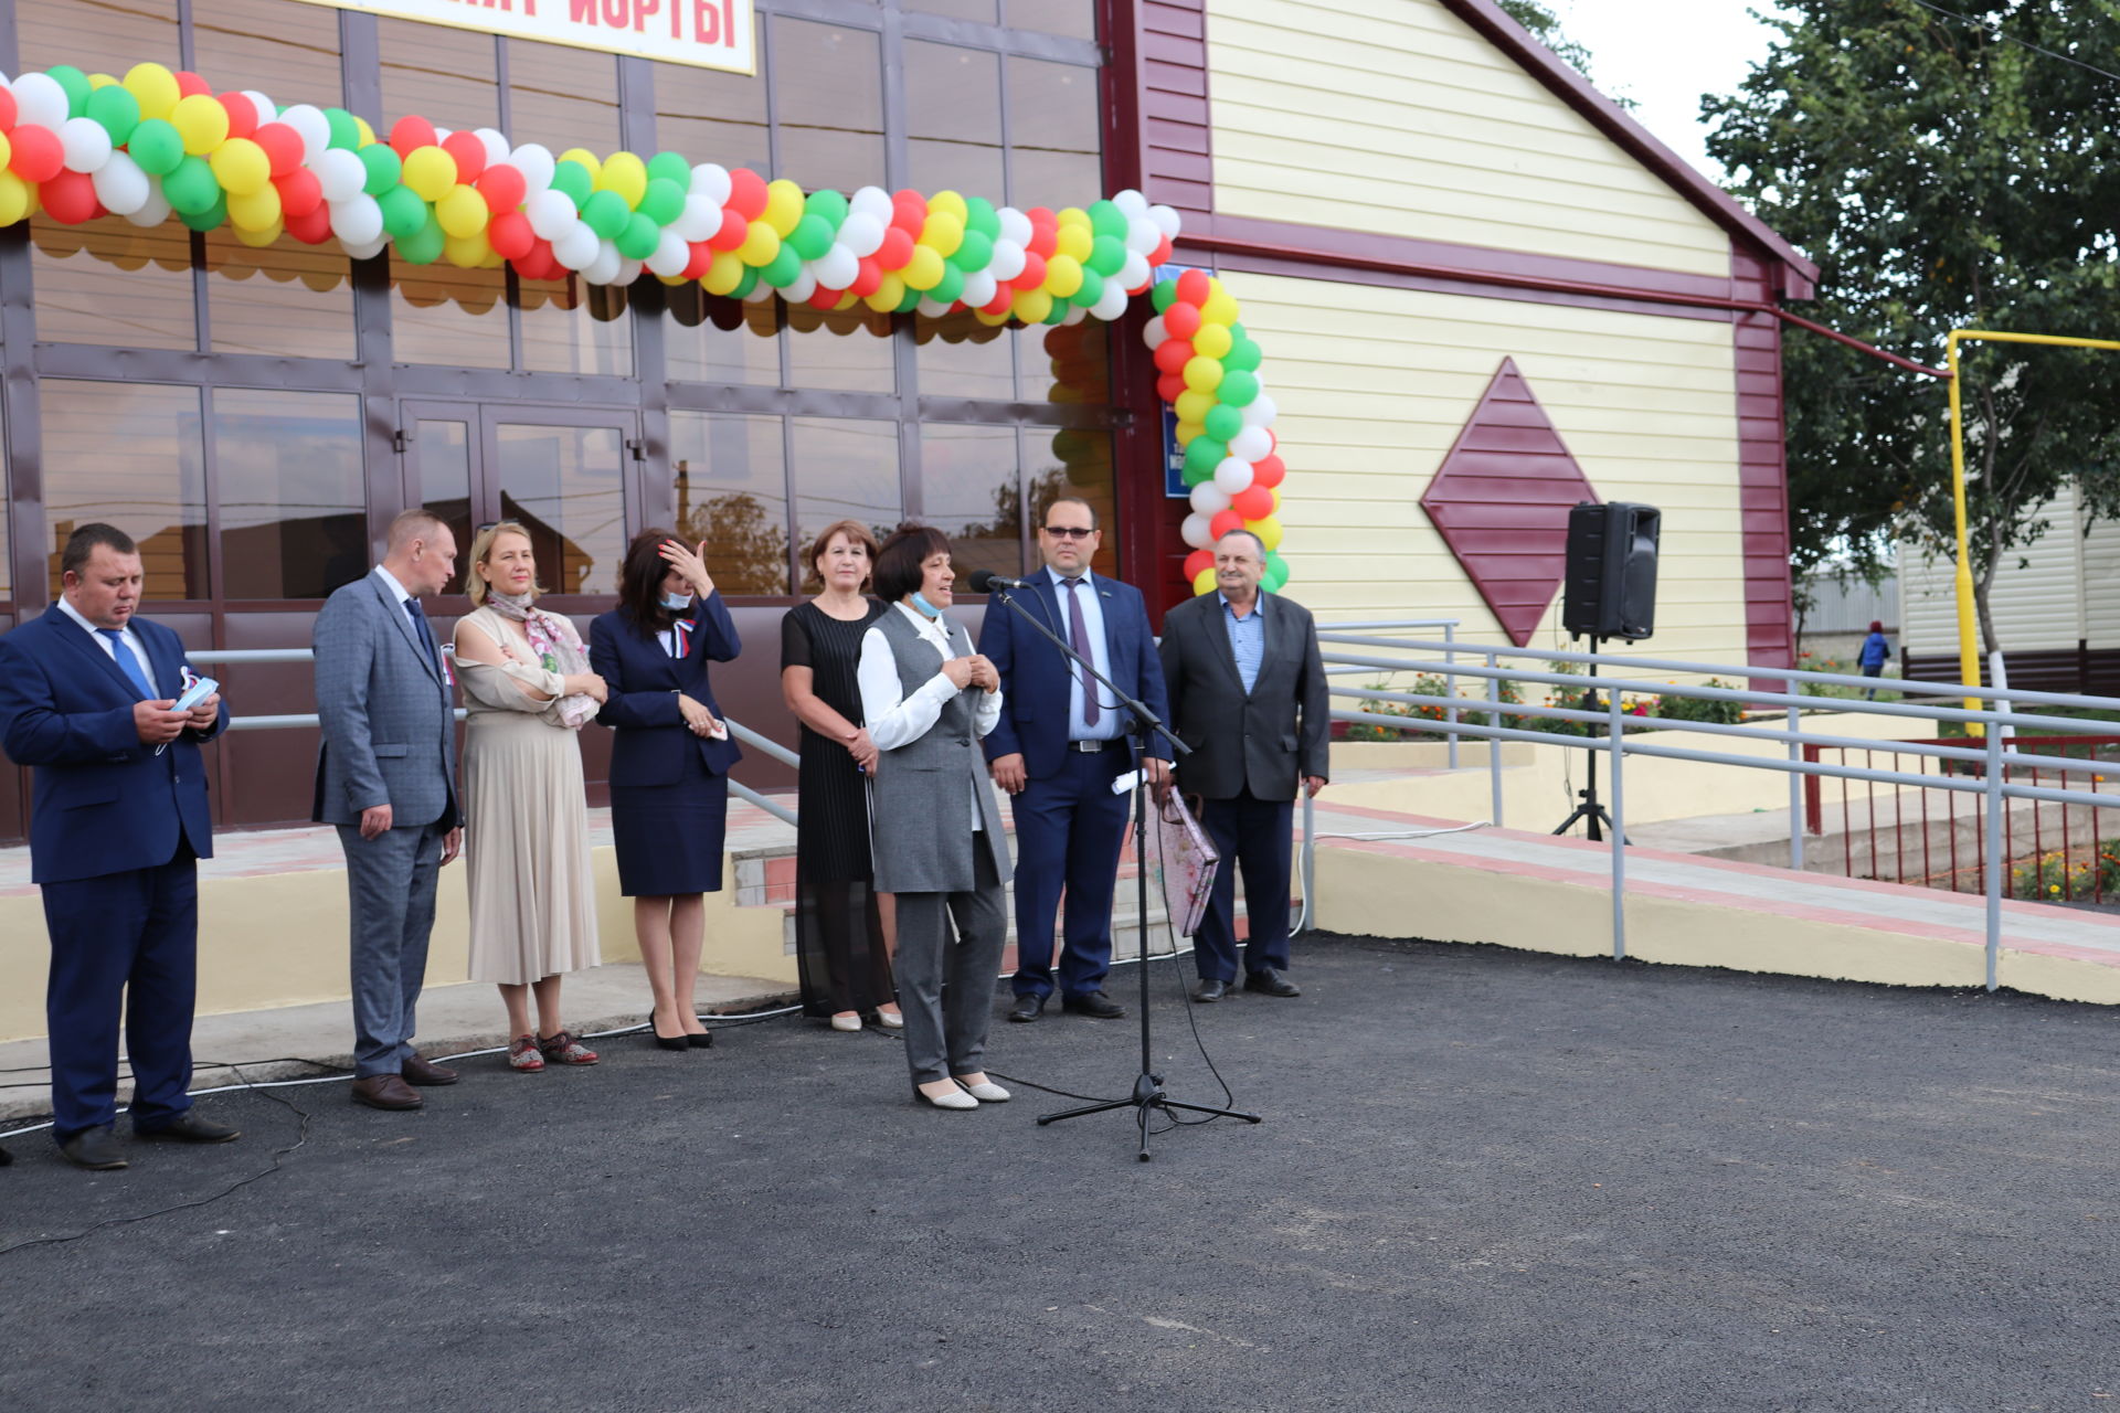
M1730 237L1437 0L1208 0L1215 208L1730 273Z

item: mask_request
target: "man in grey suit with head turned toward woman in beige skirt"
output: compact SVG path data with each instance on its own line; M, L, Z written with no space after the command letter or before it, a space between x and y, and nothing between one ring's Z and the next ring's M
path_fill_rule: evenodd
M426 511L390 521L384 561L316 614L316 820L339 826L352 902L354 1102L420 1108L456 1072L411 1049L435 881L464 830L452 674L420 608L456 576L456 536Z

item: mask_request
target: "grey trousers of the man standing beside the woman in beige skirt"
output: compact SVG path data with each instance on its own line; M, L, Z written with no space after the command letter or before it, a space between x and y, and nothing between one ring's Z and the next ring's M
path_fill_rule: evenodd
M390 828L363 839L339 826L352 905L354 1074L396 1074L411 1055L413 1008L435 930L443 828Z

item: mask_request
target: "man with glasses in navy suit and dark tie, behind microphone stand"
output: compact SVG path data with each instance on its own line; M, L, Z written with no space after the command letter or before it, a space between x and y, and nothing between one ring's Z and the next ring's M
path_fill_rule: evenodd
M1035 619L1088 657L1126 695L1166 716L1164 672L1141 591L1090 572L1102 534L1085 500L1045 506L1039 553L1045 572L1018 593ZM984 652L1001 674L1007 710L986 737L994 784L1015 797L1015 1004L1011 1021L1035 1021L1054 994L1054 915L1066 890L1066 953L1060 1006L1113 1019L1111 894L1126 843L1128 797L1111 782L1132 769L1130 714L1007 604L986 610ZM1143 769L1162 782L1168 748L1151 739Z

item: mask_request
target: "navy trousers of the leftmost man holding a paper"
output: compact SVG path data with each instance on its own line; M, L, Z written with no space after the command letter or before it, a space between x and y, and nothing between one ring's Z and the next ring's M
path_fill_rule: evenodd
M191 1108L191 1008L199 977L199 864L178 839L159 869L45 883L51 934L51 1135L117 1121L119 1015L134 1070L134 1129Z

